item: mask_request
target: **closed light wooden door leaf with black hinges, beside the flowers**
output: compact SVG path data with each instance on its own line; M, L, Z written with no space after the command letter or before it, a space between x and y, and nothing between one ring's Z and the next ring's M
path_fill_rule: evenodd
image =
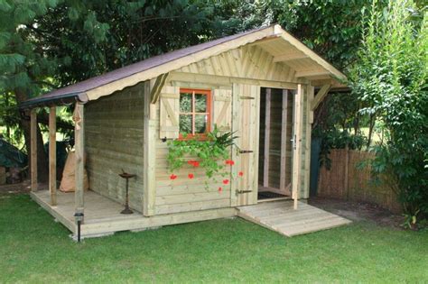
M246 206L257 203L260 87L234 84L232 96L232 131L238 138L232 151L231 206Z

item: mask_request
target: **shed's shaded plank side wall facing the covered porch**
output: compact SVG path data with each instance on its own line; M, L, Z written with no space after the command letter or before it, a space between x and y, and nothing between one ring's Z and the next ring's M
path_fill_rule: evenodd
M124 203L126 183L118 174L122 169L134 173L129 199L138 211L143 211L143 97L139 84L85 105L89 188Z

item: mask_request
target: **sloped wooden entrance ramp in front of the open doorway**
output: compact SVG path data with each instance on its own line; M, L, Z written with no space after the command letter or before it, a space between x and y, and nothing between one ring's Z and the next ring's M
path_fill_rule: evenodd
M339 215L302 202L294 210L293 201L289 200L237 207L237 215L286 236L308 234L350 223Z

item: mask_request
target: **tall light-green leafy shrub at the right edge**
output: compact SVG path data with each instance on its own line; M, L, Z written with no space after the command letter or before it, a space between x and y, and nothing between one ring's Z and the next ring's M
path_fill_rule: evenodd
M405 212L428 214L428 18L412 1L373 2L366 16L353 90L387 135L372 162L395 181ZM420 211L419 211L420 210Z

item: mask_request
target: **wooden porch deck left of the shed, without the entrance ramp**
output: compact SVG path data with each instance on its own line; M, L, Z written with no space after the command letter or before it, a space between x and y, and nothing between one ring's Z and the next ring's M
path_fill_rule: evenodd
M40 206L46 209L61 224L64 224L76 237L77 225L74 222L74 193L57 192L58 206L50 205L48 190L39 190L31 193L31 197ZM216 218L232 217L235 208L220 208L200 210L171 215L155 215L145 217L134 210L132 215L122 215L120 211L124 206L115 201L98 195L98 193L85 191L85 220L81 225L81 237L97 237L114 234L119 231L139 231L168 224L182 224Z

